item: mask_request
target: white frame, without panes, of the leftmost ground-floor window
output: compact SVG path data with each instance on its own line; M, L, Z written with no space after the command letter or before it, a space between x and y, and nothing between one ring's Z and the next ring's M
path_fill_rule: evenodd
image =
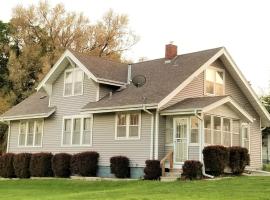
M36 137L36 123L37 121L41 121L42 122L42 128L41 128L41 141L40 141L40 145L35 145L35 137ZM33 144L32 145L27 145L27 137L28 137L28 126L29 126L29 122L34 122L34 132L33 132ZM24 138L24 145L20 145L20 136L21 136L21 124L25 123L25 138ZM21 120L20 124L19 124L19 135L18 135L18 147L27 147L27 148L31 148L31 147L42 147L43 144L43 133L44 133L44 119L36 119L36 120Z

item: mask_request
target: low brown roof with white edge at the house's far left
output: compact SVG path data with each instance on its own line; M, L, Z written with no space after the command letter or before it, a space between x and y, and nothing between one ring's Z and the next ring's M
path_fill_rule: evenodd
M13 106L3 115L3 120L46 118L55 112L55 107L48 107L49 97L45 92L36 92L21 103Z

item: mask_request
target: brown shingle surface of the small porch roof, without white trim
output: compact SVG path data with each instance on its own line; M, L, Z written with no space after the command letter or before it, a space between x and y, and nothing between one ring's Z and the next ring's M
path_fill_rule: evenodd
M163 111L171 110L187 110L187 109L202 109L206 106L209 106L221 99L226 98L227 96L213 96L213 97L195 97L195 98L186 98Z

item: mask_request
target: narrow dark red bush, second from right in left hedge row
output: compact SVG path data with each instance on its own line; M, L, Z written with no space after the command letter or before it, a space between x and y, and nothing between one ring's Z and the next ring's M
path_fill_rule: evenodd
M71 155L67 153L55 154L52 158L52 169L56 177L67 178L70 176Z

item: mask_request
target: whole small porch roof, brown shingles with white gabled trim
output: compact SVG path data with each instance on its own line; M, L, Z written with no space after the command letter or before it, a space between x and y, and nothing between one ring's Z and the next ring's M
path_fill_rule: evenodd
M253 117L247 113L232 97L230 96L209 96L209 97L195 97L186 98L164 110L161 111L162 115L175 115L177 113L195 113L195 112L208 112L221 105L228 104L238 114L246 118L249 122L253 122Z

